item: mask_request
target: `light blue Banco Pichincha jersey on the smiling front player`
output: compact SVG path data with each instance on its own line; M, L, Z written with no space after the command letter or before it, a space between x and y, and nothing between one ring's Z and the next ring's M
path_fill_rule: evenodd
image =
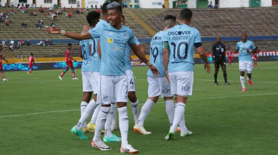
M133 32L126 26L119 30L108 24L99 25L88 31L92 38L100 38L102 58L101 75L125 75L125 49L136 42Z

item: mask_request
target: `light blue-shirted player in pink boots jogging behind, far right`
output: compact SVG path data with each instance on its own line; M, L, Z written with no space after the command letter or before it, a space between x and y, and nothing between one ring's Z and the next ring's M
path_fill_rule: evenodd
M246 91L244 73L247 71L247 80L250 86L253 86L251 81L252 75L252 52L255 52L256 46L250 40L247 40L247 34L242 33L242 41L237 43L236 52L239 52L239 68L242 92Z

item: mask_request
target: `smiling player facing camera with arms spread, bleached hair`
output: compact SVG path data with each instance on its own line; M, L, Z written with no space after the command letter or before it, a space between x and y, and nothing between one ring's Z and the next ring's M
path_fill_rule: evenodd
M124 67L124 52L126 46L130 46L134 54L143 62L149 65L155 75L159 74L157 68L138 51L135 44L133 32L121 25L122 8L117 2L110 3L107 6L108 20L110 25L103 24L90 29L86 33L65 32L58 28L45 28L49 34L61 34L66 37L84 40L90 38L100 38L101 47L101 67L99 76L99 88L97 103L102 104L97 117L96 130L92 139L92 146L100 150L110 150L101 140L101 130L103 129L107 115L110 111L111 103L116 101L119 112L119 127L121 132L121 152L137 153L127 142L128 116L127 116L127 80Z

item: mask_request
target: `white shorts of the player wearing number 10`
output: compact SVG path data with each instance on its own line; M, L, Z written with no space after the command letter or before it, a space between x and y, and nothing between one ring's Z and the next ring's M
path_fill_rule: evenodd
M173 95L191 96L194 71L169 72L171 92Z

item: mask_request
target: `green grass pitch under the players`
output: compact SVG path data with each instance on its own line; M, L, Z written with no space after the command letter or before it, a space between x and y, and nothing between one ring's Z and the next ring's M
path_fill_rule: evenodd
M254 86L246 81L241 92L238 63L227 66L230 86L225 86L221 69L219 86L214 86L213 72L195 65L193 96L188 99L186 125L189 137L165 141L169 125L163 100L159 100L145 121L151 135L132 130L132 111L128 103L128 142L142 154L277 154L278 153L278 62L259 62L253 69ZM107 143L110 151L79 140L70 129L80 117L82 81L62 70L5 72L8 82L0 82L0 154L118 154L120 142ZM147 99L147 67L133 67L136 95L140 109ZM43 113L45 112L45 113ZM33 114L36 113L36 114ZM30 114L30 115L22 115ZM13 116L17 115L17 116ZM119 130L114 132L120 136Z

